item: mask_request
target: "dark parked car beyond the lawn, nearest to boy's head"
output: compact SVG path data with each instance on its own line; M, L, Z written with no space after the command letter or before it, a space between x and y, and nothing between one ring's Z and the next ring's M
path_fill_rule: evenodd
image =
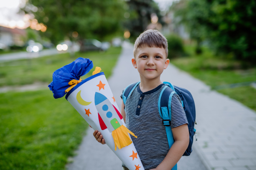
M95 39L85 39L81 42L80 51L106 51L109 47L109 42L100 42Z

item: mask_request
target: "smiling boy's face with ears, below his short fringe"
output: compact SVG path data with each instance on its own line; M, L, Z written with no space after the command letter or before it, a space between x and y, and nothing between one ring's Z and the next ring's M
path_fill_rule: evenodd
M163 70L168 67L169 59L166 57L164 48L145 46L137 48L132 63L139 71L141 78L156 79L160 78Z

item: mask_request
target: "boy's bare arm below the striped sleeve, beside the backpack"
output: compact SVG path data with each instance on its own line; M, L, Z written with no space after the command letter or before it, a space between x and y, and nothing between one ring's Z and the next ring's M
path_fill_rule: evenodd
M172 134L175 142L163 161L155 168L156 170L170 170L174 167L189 145L189 129L187 124L172 128Z

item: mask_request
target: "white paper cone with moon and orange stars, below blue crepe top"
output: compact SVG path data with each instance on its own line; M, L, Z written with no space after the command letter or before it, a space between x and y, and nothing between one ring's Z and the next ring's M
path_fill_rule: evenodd
M104 96L107 99L105 99ZM114 130L112 126L113 121L124 126L125 122L123 119L120 119L118 113L113 108L114 106L119 111L104 73L98 73L84 79L67 93L66 99L93 130L98 130L102 134L108 147L111 148L129 170L144 170L138 154L136 158L137 150L133 143L121 149L116 147L115 150L115 143L112 136L112 131ZM104 102L102 102L102 100L104 100ZM102 124L100 125L99 123L99 115L107 127L105 130L102 130Z

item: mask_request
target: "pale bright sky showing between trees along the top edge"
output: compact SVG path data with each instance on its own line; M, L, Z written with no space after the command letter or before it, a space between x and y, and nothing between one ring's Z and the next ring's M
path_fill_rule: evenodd
M29 26L31 16L17 14L19 8L24 6L26 0L0 0L0 26L9 28L26 28ZM167 10L167 7L175 0L154 0L158 3L161 11Z

